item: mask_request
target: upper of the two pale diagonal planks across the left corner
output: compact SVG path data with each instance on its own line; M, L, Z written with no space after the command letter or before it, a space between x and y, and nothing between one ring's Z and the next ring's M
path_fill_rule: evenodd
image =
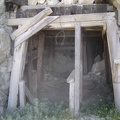
M47 15L51 13L52 13L52 10L50 8L46 8L40 13L38 13L36 16L34 16L29 21L25 22L23 26L21 26L11 34L12 40L15 40L17 37L19 37L21 34L27 31L30 27L34 26L36 23L38 23L40 20L42 20L43 18L45 18Z

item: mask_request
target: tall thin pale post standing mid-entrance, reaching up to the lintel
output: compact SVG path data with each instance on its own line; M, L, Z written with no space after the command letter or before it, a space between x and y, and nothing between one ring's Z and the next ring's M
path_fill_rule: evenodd
M80 101L82 100L82 51L81 26L75 26L75 116L79 116Z

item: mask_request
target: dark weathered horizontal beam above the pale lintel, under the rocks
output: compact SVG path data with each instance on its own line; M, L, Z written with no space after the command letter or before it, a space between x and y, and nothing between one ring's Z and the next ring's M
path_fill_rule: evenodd
M33 17L42 9L46 8L48 5L37 5L37 6L22 6L21 13L26 17ZM113 6L107 4L91 4L91 5L50 5L53 10L52 15L71 15L71 14L89 14L89 13L106 13L113 11ZM28 15L29 14L29 15Z

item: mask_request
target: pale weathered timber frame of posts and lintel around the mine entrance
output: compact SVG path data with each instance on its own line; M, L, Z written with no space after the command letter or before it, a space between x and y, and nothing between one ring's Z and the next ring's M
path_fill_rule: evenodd
M24 25L27 21L33 18L16 18L8 19L8 26ZM120 110L120 43L118 26L115 19L115 13L92 13L92 14L77 14L77 15L64 15L64 16L47 16L46 18L52 19L49 24L41 27L39 22L35 23L36 27L30 29L32 34L27 34L25 31L15 39L14 47L14 61L10 81L10 93L8 107L15 108L17 105L18 83L23 78L24 62L26 58L26 49L28 38L32 35L43 30L75 30L75 76L74 80L70 82L70 108L75 116L79 116L80 103L82 101L82 28L100 27L102 35L107 34L108 51L110 56L112 79L114 86L114 98L116 107ZM53 20L54 19L54 20ZM37 25L39 27L37 27ZM31 27L32 28L32 27ZM33 30L35 32L33 32ZM31 32L30 32L31 33ZM12 36L13 37L13 36ZM42 54L42 52L41 52ZM42 61L40 61L42 62ZM42 64L42 63L40 63ZM72 78L73 79L73 78Z

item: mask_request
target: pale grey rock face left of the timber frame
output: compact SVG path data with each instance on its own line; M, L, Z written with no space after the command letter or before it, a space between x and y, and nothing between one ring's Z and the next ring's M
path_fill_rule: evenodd
M4 0L0 1L0 114L7 106L10 72L8 61L10 58L11 40L6 26Z

